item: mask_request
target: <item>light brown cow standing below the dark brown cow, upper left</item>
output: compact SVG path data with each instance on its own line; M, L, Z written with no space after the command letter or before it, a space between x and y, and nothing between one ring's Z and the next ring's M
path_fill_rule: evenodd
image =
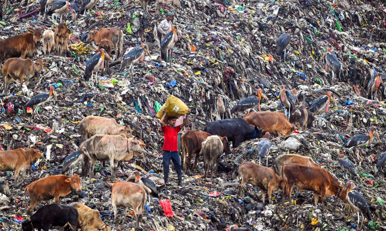
M20 79L20 90L23 90L23 80L25 80L25 85L28 85L29 78L34 77L35 71L43 72L41 59L36 61L20 58L7 59L3 65L4 94L7 94L11 79Z

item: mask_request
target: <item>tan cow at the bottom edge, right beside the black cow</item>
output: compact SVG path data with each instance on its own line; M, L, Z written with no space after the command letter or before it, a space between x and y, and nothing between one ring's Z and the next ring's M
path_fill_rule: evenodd
M78 228L81 231L110 231L110 226L103 223L99 217L97 209L91 209L86 205L78 202L69 204L72 208L78 211Z

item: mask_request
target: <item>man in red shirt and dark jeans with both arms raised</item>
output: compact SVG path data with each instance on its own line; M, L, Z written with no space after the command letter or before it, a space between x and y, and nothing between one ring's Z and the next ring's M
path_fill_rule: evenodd
M164 146L162 147L163 150L163 167L164 167L164 182L167 186L171 186L171 184L168 183L168 177L169 177L169 164L170 160L173 161L174 169L176 169L177 176L178 176L178 185L183 186L182 184L182 171L181 171L181 157L179 156L178 151L178 132L181 131L181 128L183 128L185 125L189 124L189 112L186 114L185 121L180 124L179 126L176 126L176 117L168 117L168 125L164 124L164 120L166 117L166 110L163 109L163 116L161 118L161 130L164 133Z

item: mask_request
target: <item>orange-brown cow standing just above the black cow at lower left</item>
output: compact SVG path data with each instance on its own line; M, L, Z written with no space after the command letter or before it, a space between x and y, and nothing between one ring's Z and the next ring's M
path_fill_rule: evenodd
M76 174L74 176L55 175L46 176L37 181L34 181L27 185L24 189L24 199L27 203L27 196L25 192L28 192L30 198L30 206L27 203L27 213L32 214L37 203L40 201L46 201L55 198L55 203L60 203L60 197L64 197L70 193L80 194L82 189L80 188L80 177Z

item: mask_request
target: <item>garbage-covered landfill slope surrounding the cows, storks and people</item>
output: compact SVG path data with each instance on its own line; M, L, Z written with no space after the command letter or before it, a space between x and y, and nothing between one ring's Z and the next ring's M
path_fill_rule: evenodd
M67 58L42 55L40 45L33 58L43 60L44 73L30 79L26 92L21 94L19 82L13 81L8 89L14 94L0 97L3 107L0 114L1 148L34 145L45 157L21 174L22 182L17 189L13 187L13 172L1 172L1 176L10 181L13 194L0 200L3 201L0 205L1 230L21 230L20 221L27 219L25 186L44 176L61 174L65 156L78 150L83 141L79 122L86 115L120 115L124 117L123 123L132 127L133 135L146 144L146 159L134 157L130 162L120 163L117 179L125 180L135 167L141 167L144 169L142 176L163 184L163 133L159 129L159 119L154 117L156 102L162 105L169 94L179 97L191 109L191 129L201 130L208 122L220 119L216 109L218 95L227 100L226 118L231 116L230 110L237 100L256 95L258 88L269 98L269 102L262 101L261 109L276 111L281 85L287 89L296 88L298 102L304 99L306 104L315 100L313 91L321 88L330 88L339 96L335 95L337 105L331 105L325 116L317 116L312 128L301 134L304 139L299 140L298 151L280 146L289 137L271 139L273 147L268 166L274 167L274 158L284 153L310 156L345 183L348 179L338 166L339 149L356 164L359 177L348 175L348 178L371 207L373 222L365 222L362 230L385 230L384 170L376 168L379 154L386 151L385 104L384 101L371 103L366 100L368 81L374 71L383 73L386 64L386 10L382 1L183 0L180 3L180 8L166 3L161 10L174 13L174 23L179 31L170 68L157 57L160 50L153 44L154 25L164 19L163 13L154 11L154 2L149 2L152 15L147 18L139 1L123 0L100 0L90 15L81 15L75 23L69 13L63 14L72 33L69 39L71 54ZM51 16L44 22L37 13L23 17L37 7L37 1L10 1L3 7L5 25L0 25L1 39L24 33L27 28L50 28ZM131 73L127 68L120 71L119 64L111 66L110 75L105 71L101 77L99 72L98 90L93 90L89 85L91 82L85 82L84 74L85 63L96 53L96 47L82 44L81 40L85 42L85 32L100 27L121 27L124 33L134 32L150 48L152 59L146 57L144 63L135 65L131 82L128 76ZM284 61L276 55L276 40L289 28L291 40ZM124 51L136 44L135 39L125 35ZM327 47L334 50L342 64L340 77L334 84L330 67L326 72L325 61L321 59ZM24 111L24 105L32 95L48 90L51 85L56 88L58 100L41 107L41 119L37 115L31 119L32 115ZM382 97L384 99L384 95ZM237 116L242 117L242 113ZM351 136L368 132L370 126L377 127L381 140L375 139L364 147L366 152L362 151L363 161L359 165L354 153L342 144ZM273 193L272 205L263 205L260 189L247 186L248 191L239 198L237 168L244 161L258 159L258 141L243 142L231 154L223 156L219 176L213 181L198 176L203 175L202 162L194 176L183 177L185 187L176 185L177 176L171 170L173 186L168 187L167 194L161 194L159 199L171 201L174 217L164 216L160 204L152 198L151 212L145 210L142 228L224 230L237 224L251 230L356 229L356 212L337 196L327 196L326 207L322 208L321 204L313 205L312 192L299 192L295 187L292 194L295 205L281 206L281 190ZM262 160L264 164L265 160ZM82 177L84 198L69 195L61 203L80 201L98 209L101 219L113 230L134 230L134 216L127 216L127 224L120 223L122 209L118 212L119 223L113 224L111 188L107 182L115 179L108 177L108 166L108 163L103 167L97 162L95 178ZM78 164L74 173L80 173L80 169L81 164ZM244 198L246 196L250 198Z

